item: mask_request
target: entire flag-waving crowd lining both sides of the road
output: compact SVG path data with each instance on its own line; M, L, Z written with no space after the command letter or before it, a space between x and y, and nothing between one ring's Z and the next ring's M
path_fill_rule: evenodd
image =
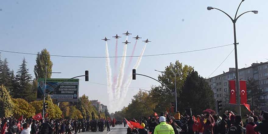
M132 119L139 128L127 129L127 134L268 134L268 112L259 116L247 115L244 123L240 115L226 111L222 116L216 114L174 116L161 113L160 116ZM86 119L16 119L0 118L0 134L72 134L79 132L110 131L110 126L122 125L126 120L86 120ZM107 129L107 130L106 130ZM148 130L147 130L148 129Z

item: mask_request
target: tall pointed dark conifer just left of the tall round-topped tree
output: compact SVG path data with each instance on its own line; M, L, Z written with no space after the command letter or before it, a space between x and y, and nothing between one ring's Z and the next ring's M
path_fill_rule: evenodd
M23 58L22 64L19 67L16 78L19 83L19 92L16 92L15 97L23 98L26 101L31 100L32 93L32 76L29 74L29 69L27 69L26 60Z

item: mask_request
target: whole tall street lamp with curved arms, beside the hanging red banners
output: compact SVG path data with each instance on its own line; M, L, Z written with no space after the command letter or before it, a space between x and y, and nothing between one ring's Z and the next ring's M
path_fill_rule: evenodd
M252 10L252 11L247 11L247 12L244 12L242 13L241 15L239 15L237 17L237 13L238 13L238 9L240 7L240 5L242 4L242 2L244 2L245 0L242 0L236 10L236 13L235 13L235 16L234 16L234 19L229 15L227 14L226 12L220 10L220 9L217 9L217 8L214 8L214 7L211 7L211 6L208 6L207 7L207 10L211 10L211 9L216 9L216 10L219 10L221 12L223 12L225 15L227 15L231 21L233 22L233 27L234 27L234 57L235 57L235 78L236 78L236 93L237 93L237 102L238 102L238 112L239 114L241 115L241 106L240 106L240 84L239 84L239 78L238 78L238 62L237 62L237 42L236 42L236 28L235 28L235 23L237 21L237 19L239 17L241 17L243 14L247 13L247 12L253 12L254 14L257 14L258 11L257 10Z

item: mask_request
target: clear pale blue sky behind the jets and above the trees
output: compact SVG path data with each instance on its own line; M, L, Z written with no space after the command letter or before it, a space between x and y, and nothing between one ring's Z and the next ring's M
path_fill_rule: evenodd
M115 39L118 40L118 56L122 55L127 30L129 37L127 55L131 55L137 34L142 39L152 41L147 45L144 55L189 51L216 47L234 43L233 25L222 12L206 9L207 6L224 10L232 17L241 1L239 0L1 0L0 1L0 50L37 53L47 48L52 55L105 56L105 42L108 37L110 56L115 55ZM236 23L238 45L238 67L250 66L253 62L267 62L266 44L268 23L268 1L245 0L238 13L258 10L243 15ZM138 41L134 55L139 55L144 46ZM208 77L233 50L234 46L215 48L206 51L143 57L137 73L157 78L170 62L179 60L184 65L191 65L200 76ZM35 55L2 52L2 59L7 58L9 67L15 72L26 58L27 66L34 77ZM108 105L110 112L127 106L139 88L149 89L157 82L137 76L132 81L127 97L122 106L111 108L107 93L105 58L63 58L51 57L52 70L62 72L52 78L71 78L90 72L90 82L80 78L79 96L86 94L90 100L99 100ZM111 58L114 72L114 58ZM129 58L126 58L127 62ZM133 58L134 66L137 58ZM121 58L118 58L118 69ZM234 53L215 71L216 76L229 67L235 67ZM125 70L125 73L131 72ZM96 84L101 83L101 84Z

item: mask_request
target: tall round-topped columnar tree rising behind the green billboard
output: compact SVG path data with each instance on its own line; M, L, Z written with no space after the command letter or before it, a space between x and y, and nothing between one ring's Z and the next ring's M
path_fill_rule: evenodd
M34 65L34 71L33 71L35 79L45 78L46 65L47 65L47 72L52 72L53 63L50 60L50 54L47 49L43 49L41 53L38 52L36 57L36 65ZM51 73L47 74L47 78L51 78Z

